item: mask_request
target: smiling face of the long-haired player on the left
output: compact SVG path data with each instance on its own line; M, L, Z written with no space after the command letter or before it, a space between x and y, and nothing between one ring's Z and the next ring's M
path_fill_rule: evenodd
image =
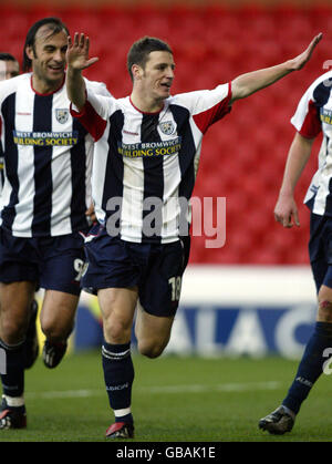
M34 47L27 50L32 60L33 78L51 89L61 85L64 78L68 35L65 31L52 35L48 25L41 27L34 39Z

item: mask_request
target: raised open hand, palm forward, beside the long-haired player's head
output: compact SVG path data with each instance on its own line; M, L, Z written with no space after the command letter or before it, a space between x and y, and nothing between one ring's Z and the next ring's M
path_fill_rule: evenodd
M74 70L85 70L98 61L98 58L89 59L90 40L84 33L75 32L74 41L68 37L68 50L65 53L66 63Z

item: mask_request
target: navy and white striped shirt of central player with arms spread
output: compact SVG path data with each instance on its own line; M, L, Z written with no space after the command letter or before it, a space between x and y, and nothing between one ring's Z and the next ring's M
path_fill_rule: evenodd
M87 89L84 109L72 114L96 141L92 194L110 235L117 231L134 243L176 241L186 235L181 215L188 233L203 135L229 113L230 99L229 83L170 96L151 114L129 96L102 97Z

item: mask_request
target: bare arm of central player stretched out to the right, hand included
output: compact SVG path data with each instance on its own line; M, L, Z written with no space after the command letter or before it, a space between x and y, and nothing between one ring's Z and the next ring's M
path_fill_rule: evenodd
M279 81L279 79L286 76L292 71L301 70L310 60L314 48L321 39L322 33L315 35L308 49L292 60L288 60L284 63L278 64L277 66L249 72L236 78L231 83L231 103L236 100L245 99L246 96L249 96L252 93L273 84L274 82Z

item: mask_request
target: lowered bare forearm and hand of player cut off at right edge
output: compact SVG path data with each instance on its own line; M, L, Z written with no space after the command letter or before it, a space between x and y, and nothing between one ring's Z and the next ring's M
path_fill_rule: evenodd
M297 132L290 146L279 198L274 207L274 219L283 227L300 226L294 189L311 154L314 138L303 137Z

